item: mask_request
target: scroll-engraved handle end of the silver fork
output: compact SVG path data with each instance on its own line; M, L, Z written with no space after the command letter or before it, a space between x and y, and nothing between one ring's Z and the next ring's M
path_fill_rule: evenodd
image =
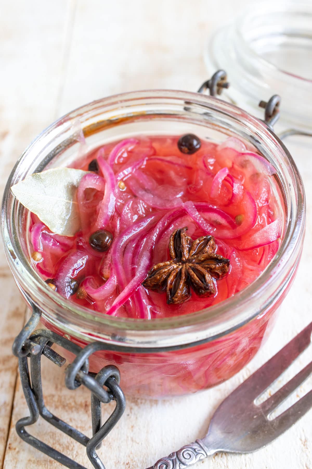
M198 439L194 443L174 451L169 456L161 458L148 469L184 469L214 453L215 451L208 450L203 441Z

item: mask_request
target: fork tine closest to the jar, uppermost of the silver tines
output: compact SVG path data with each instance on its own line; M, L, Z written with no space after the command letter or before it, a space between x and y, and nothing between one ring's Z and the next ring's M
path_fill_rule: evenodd
M310 345L311 333L312 322L245 381L244 389L248 390L248 397L259 397L291 365Z

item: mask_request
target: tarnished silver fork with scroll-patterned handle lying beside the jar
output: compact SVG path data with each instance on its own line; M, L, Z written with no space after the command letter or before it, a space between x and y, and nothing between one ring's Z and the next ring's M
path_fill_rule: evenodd
M251 453L268 445L312 407L312 390L273 420L268 416L312 373L312 362L259 405L257 398L311 343L312 323L236 388L217 408L203 439L161 458L148 469L184 469L217 452Z

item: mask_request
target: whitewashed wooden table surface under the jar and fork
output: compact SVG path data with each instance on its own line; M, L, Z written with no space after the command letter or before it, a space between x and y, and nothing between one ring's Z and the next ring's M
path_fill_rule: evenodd
M146 88L195 91L208 77L203 50L208 35L245 0L23 0L3 1L0 15L0 189L16 159L44 127L96 98ZM302 172L307 196L305 248L297 278L266 345L226 383L172 401L128 400L125 415L105 440L100 456L108 469L145 468L202 437L223 398L311 321L311 144L287 144ZM17 361L10 347L25 309L3 252L0 256L0 462L2 468L60 468L15 433L28 414ZM300 359L307 363L311 348ZM64 371L43 360L44 393L51 411L91 434L89 393L64 387ZM293 374L295 370L293 370ZM307 383L311 386L312 380ZM306 388L301 388L300 393ZM61 392L61 398L58 397ZM104 408L105 414L109 409ZM198 464L216 469L311 469L311 412L267 448L247 455L217 454ZM40 420L33 434L86 467L78 443Z

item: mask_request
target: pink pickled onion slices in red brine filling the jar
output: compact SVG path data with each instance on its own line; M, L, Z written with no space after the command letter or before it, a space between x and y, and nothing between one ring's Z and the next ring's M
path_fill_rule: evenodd
M209 308L264 271L284 224L274 167L236 138L198 140L190 149L179 138L138 136L77 160L74 167L89 172L77 190L75 236L53 234L30 215L32 262L56 294L103 314L165 318ZM166 291L142 283L153 265L170 260L170 235L183 227L192 240L212 235L230 267L213 279L215 294L191 289L187 301L167 304Z

